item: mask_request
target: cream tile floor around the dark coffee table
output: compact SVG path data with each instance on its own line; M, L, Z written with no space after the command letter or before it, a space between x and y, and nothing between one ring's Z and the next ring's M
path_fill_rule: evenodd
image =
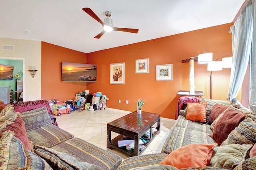
M100 148L108 150L126 159L129 156L115 149L106 147L107 123L114 121L130 112L118 109L108 108L106 110L96 111L73 111L70 114L62 114L56 116L56 121L60 128L74 135L74 137L82 138ZM158 134L150 145L144 150L143 154L160 153L164 141L169 134L170 128L174 125L175 120L161 118L160 134ZM114 137L118 134L111 134Z

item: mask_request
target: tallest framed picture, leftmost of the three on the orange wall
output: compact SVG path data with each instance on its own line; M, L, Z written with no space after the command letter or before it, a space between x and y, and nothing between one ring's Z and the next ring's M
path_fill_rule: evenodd
M110 84L124 85L124 63L110 64Z

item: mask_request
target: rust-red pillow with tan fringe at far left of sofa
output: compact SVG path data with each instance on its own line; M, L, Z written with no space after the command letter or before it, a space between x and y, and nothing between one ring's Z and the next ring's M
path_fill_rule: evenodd
M6 107L0 112L0 136L2 133L11 130L14 131L14 136L18 138L24 146L30 150L25 124L19 113L13 110L11 105Z

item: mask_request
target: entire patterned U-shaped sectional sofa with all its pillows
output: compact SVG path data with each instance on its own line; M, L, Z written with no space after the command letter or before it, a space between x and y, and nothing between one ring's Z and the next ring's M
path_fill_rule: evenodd
M198 101L179 104L162 153L123 162L58 128L47 101L1 101L0 169L256 169L256 116L239 104Z

